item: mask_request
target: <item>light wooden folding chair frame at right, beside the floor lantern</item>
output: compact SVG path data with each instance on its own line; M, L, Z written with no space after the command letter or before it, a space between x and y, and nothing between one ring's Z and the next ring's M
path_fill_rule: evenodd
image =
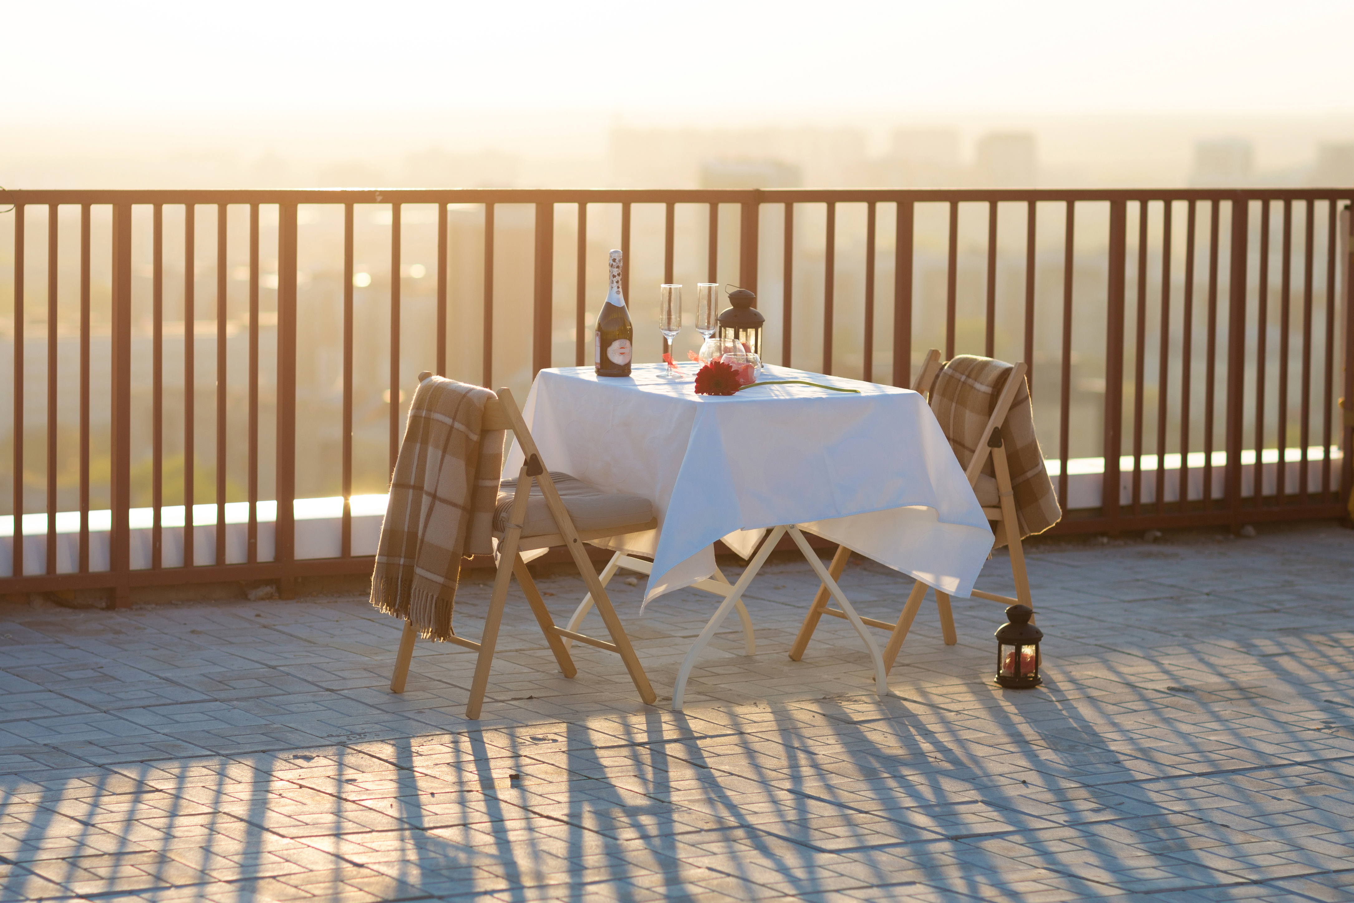
M940 371L940 351L932 348L926 353L926 360L922 361L922 370L917 375L917 382L913 383L913 390L929 397ZM1010 463L1006 460L1005 452L994 454L997 449L1002 448L1001 425L1006 422L1006 413L1010 410L1011 402L1016 401L1016 393L1025 382L1025 364L1018 363L1011 371L1010 378L1007 378L1006 386L1002 389L1001 395L997 397L992 413L987 418L987 424L983 428L978 451L964 467L964 475L968 478L968 485L978 491L979 502L983 505L983 513L987 516L987 520L997 525L998 544L1005 539L1007 547L1010 548L1011 575L1016 582L1016 598L1011 598L1010 596L998 596L997 593L986 593L978 589L972 590L972 594L978 598L986 598L1005 605L1014 605L1020 602L1021 605L1034 608L1034 602L1029 594L1029 577L1025 573L1025 550L1021 547L1020 527L1016 520L1016 500L1011 490ZM994 486L991 485L990 478L988 482L982 485L979 482L983 467L987 464L988 455L992 458L992 470L997 475L995 497L991 497ZM1006 529L1007 524L1011 525L1010 529ZM827 573L831 574L833 579L841 578L842 571L846 570L846 562L849 559L850 550L845 546L838 546L837 554L833 555L833 562L827 569ZM871 627L890 631L888 644L884 647L886 670L891 670L894 667L894 659L898 658L898 650L902 648L903 640L907 639L907 631L911 628L913 619L917 617L917 611L921 608L922 597L925 596L926 583L917 581L913 586L913 592L907 596L907 602L903 605L903 612L899 615L896 623L890 624L888 621L876 620L873 617L860 619ZM829 598L830 594L827 592L827 586L819 585L818 594L814 596L814 604L808 609L808 615L804 617L803 625L799 628L799 636L795 638L795 646L789 650L789 657L793 661L798 662L803 658L804 650L808 647L808 640L814 635L814 630L818 627L818 620L823 615L831 615L833 617L841 619L846 617L845 612L829 608ZM945 639L946 646L953 646L959 642L959 635L955 632L955 617L951 613L949 596L938 589L936 590L936 608L940 612L941 636ZM1030 623L1033 623L1033 619Z

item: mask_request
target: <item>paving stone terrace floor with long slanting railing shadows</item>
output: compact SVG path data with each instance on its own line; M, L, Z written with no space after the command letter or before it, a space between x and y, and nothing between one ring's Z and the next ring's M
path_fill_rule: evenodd
M844 621L791 662L815 582L784 558L757 655L730 619L682 713L603 650L565 680L515 597L481 722L454 646L389 692L399 625L362 598L4 604L0 900L1354 900L1354 532L1045 543L1030 574L1037 690L984 682L978 600L952 647L923 607L886 700ZM844 579L887 620L907 583ZM581 593L540 585L561 619ZM669 696L712 597L615 588Z

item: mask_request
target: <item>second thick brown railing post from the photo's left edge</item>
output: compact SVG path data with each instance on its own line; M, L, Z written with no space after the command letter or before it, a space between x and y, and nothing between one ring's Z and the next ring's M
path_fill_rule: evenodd
M295 594L297 550L297 204L278 204L278 519L274 559L282 566L278 590ZM399 273L391 273L398 279ZM390 399L394 405L395 398Z

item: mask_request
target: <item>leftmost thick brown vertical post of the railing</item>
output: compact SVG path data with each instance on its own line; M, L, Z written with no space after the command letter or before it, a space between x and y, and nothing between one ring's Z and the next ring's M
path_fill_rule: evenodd
M131 543L127 512L131 508L131 204L112 207L112 429L111 486L112 532L108 536L108 569L115 574L111 608L131 605Z

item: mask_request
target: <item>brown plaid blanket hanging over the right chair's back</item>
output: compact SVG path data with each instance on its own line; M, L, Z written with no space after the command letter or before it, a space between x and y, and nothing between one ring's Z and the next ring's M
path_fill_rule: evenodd
M978 443L982 441L983 426L992 414L992 405L997 403L1014 370L1013 364L991 357L959 355L936 376L932 386L932 410L945 431L955 456L965 468L974 459ZM1029 386L1024 384L1024 380L1016 390L1016 398L1001 429L1010 462L1020 535L1024 539L1032 533L1043 533L1062 519L1063 512L1057 505L1053 483L1044 468L1044 452L1034 436ZM991 458L983 466L983 474L988 479L995 479Z

